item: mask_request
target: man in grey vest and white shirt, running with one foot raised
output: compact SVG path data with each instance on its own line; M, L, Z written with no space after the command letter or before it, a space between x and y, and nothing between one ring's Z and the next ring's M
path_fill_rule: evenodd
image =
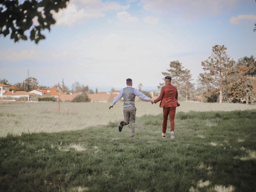
M137 89L132 88L131 79L126 79L126 85L127 87L123 88L121 92L118 94L118 96L116 96L109 109L111 109L114 106L114 104L116 104L116 102L118 102L122 97L124 98L124 121L120 122L118 130L119 132L121 132L123 126L128 125L129 122L131 122L130 136L134 137L136 118L135 96L138 96L139 98L148 100L150 102L153 102L153 100L150 97L143 94L142 92L138 91Z

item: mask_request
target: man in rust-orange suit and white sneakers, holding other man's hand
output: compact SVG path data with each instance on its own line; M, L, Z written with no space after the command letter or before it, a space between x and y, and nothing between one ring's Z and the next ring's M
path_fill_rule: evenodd
M165 138L168 116L170 118L171 125L171 140L174 140L174 117L176 107L180 106L178 103L178 91L177 87L171 84L172 78L166 76L165 86L161 88L161 92L158 98L154 100L154 103L160 102L160 107L163 108L163 126L162 126L162 138Z

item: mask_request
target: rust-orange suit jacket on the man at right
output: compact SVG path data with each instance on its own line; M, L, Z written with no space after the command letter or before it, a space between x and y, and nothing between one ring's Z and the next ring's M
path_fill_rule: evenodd
M178 107L178 90L177 87L168 83L161 88L161 93L154 103L160 101L160 107Z

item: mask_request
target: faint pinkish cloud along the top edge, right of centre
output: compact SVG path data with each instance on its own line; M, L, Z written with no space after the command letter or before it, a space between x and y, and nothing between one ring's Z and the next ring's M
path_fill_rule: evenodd
M144 9L183 18L218 15L227 12L237 0L142 0Z

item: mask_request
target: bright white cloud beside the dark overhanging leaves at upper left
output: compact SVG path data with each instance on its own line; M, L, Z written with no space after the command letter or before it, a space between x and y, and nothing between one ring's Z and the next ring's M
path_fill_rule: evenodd
M79 2L78 6L76 2ZM83 19L104 17L108 11L126 10L130 6L121 6L116 2L101 2L100 0L77 0L70 1L66 9L58 13L52 11L56 25L72 25Z

